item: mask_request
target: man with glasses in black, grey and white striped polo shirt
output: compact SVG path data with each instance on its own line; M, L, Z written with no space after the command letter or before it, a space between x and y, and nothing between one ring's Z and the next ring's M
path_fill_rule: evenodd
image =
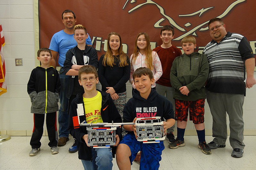
M244 152L243 104L245 89L256 84L253 76L255 59L249 42L243 35L226 31L220 18L208 23L212 41L204 48L209 63L206 99L212 114L213 141L211 149L223 148L227 140L229 117L229 142L232 157L241 158ZM246 82L245 80L246 69Z

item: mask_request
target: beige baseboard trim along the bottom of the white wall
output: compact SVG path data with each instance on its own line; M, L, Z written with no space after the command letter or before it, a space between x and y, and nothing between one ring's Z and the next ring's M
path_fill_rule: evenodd
M32 130L1 130L2 135L10 136L31 136ZM174 135L177 135L177 130L174 130ZM230 131L228 129L228 135ZM186 129L185 135L197 135L196 129ZM212 136L212 129L205 129L205 135ZM244 135L256 135L256 129L244 129ZM48 136L47 130L44 130L43 136Z

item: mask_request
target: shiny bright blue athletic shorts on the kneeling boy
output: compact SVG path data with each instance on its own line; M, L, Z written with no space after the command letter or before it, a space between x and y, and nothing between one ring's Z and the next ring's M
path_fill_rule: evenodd
M131 165L135 159L137 153L141 152L140 158L140 170L155 170L158 169L161 161L162 151L164 150L164 142L143 144L143 142L137 141L134 134L127 133L119 144L126 144L131 150L131 156L129 157Z

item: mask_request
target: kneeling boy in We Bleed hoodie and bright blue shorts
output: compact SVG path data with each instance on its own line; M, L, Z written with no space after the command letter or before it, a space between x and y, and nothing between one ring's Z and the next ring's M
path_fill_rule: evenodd
M133 97L124 107L124 122L135 123L137 117L142 115L138 108L142 108L141 112L143 112L143 108L155 107L156 112L149 114L151 114L151 117L160 116L162 120L164 120L163 118L166 119L166 122L164 122L165 133L166 129L172 127L175 123L172 103L151 88L155 79L150 69L146 67L138 68L134 71L132 77L136 89L133 92ZM143 144L136 139L135 125L124 125L124 129L128 133L124 136L116 151L116 162L119 169L131 169L132 161L139 151L142 151L140 169L158 169L161 154L164 150L164 142Z

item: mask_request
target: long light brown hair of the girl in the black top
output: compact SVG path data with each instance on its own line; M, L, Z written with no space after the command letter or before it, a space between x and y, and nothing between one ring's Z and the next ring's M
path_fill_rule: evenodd
M115 33L115 32L111 32L111 33L108 34L108 49L107 49L106 54L104 55L102 64L104 66L108 65L110 67L113 67L114 65L116 65L116 63L115 63L115 57L116 56L112 54L111 48L109 46L109 41L110 41L110 36L111 35L117 35L119 37L119 40L120 40L120 46L119 46L118 51L117 51L118 54L119 54L119 60L120 60L118 66L119 67L124 67L124 66L129 65L129 63L127 62L127 55L123 51L121 36L119 35L119 33Z

